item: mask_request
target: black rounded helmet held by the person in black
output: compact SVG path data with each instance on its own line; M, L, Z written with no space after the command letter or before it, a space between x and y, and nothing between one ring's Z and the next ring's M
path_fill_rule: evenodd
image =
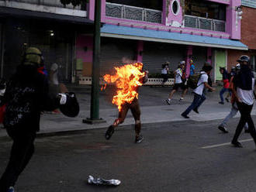
M67 117L74 118L78 116L79 104L73 92L65 93L67 96L66 104L60 105L61 112Z

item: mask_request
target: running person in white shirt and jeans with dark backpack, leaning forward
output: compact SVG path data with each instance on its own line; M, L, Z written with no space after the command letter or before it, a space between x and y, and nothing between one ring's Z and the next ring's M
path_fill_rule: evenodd
M199 81L197 83L197 87L193 90L194 93L194 100L192 104L187 108L183 113L182 117L189 118L190 111L194 110L198 113L197 108L199 105L202 105L202 102L206 100L206 96L203 94L204 88L209 88L211 91L215 89L210 87L208 84L208 75L210 74L211 70L213 69L210 65L205 65L202 67L202 71L200 72Z

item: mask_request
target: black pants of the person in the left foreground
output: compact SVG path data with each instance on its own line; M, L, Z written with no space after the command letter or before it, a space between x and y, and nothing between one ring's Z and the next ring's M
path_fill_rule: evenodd
M9 136L12 138L12 150L9 163L0 179L0 191L6 192L9 187L14 187L20 173L34 153L34 140L36 132L13 132L7 129Z

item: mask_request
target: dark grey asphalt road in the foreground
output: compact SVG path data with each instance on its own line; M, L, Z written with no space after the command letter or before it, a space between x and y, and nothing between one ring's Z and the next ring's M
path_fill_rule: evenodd
M134 143L130 126L117 129L109 141L103 137L105 130L38 138L16 191L255 191L254 142L243 142L242 149L228 143L237 121L230 122L228 134L216 129L220 121L143 125L145 139L140 144ZM251 136L243 133L240 139ZM2 139L0 145L2 173L11 142ZM202 149L205 146L212 148ZM88 175L122 183L91 186Z

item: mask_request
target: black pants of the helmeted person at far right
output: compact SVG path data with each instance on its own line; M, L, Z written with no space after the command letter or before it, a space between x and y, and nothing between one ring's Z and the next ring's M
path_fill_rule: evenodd
M245 103L237 102L238 110L240 111L240 121L237 125L237 129L233 138L233 142L237 142L237 139L242 132L245 123L248 124L248 129L251 133L251 137L254 139L254 142L256 144L256 132L254 128L254 122L251 118L251 109L253 105L246 105Z

